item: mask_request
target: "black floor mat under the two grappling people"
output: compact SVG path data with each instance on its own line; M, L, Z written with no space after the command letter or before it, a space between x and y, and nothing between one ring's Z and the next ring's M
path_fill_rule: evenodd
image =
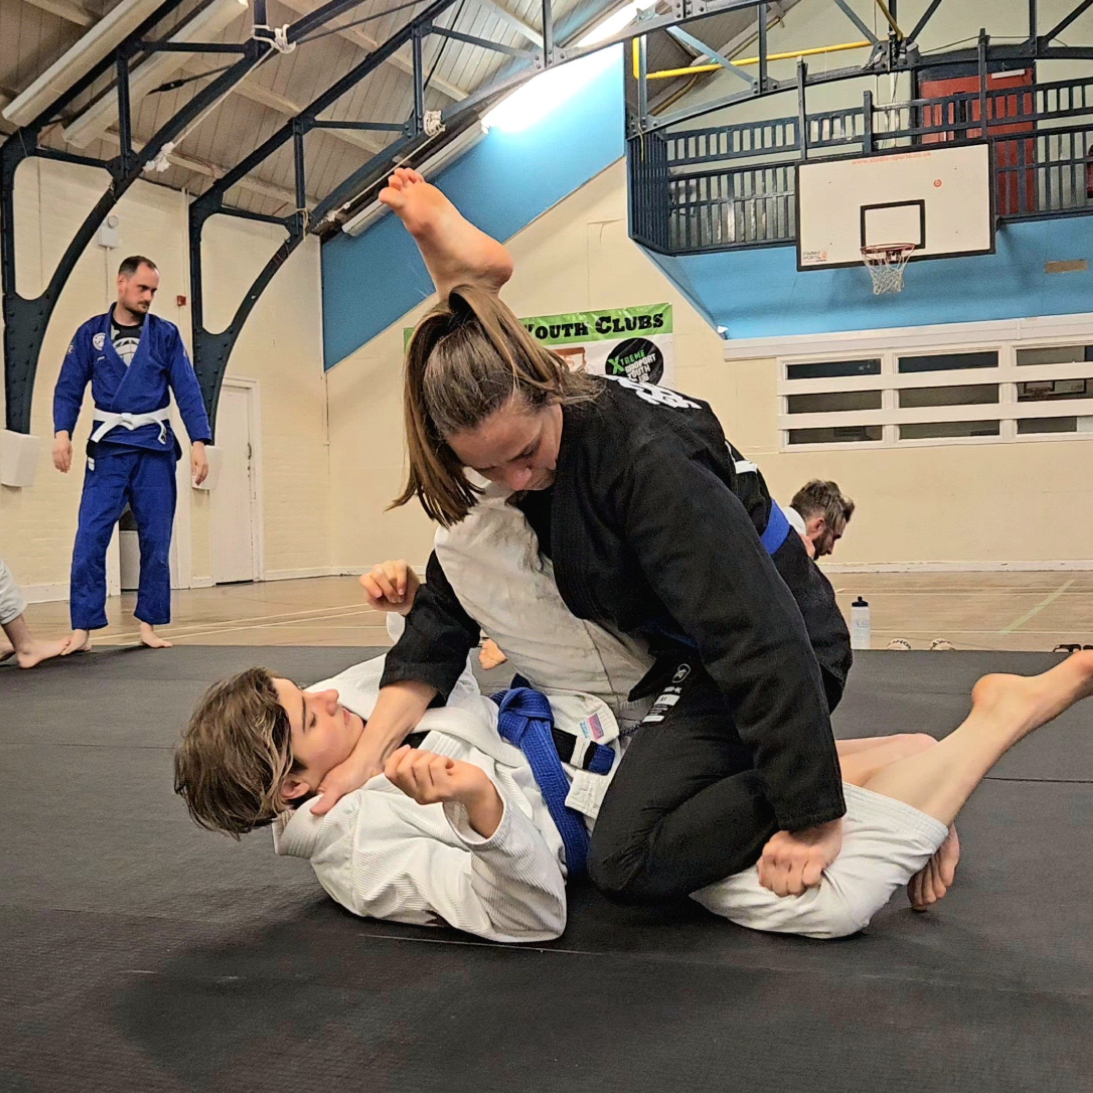
M268 833L199 831L171 748L215 677L299 681L361 649L105 651L0 668L0 1090L1093 1089L1093 704L996 767L957 883L835 943L571 893L545 945L353 917ZM841 737L964 716L985 671L871 654ZM500 682L504 672L491 673Z

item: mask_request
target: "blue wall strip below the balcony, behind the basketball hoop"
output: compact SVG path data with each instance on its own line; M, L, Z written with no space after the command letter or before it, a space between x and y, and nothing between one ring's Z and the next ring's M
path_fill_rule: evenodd
M729 339L1093 312L1093 269L1044 272L1046 261L1093 267L1093 216L1006 225L997 254L912 262L889 296L872 294L865 268L798 272L794 247L649 257Z

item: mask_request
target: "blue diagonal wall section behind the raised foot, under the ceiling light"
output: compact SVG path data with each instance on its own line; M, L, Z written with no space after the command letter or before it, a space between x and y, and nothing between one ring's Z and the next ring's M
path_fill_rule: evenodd
M522 132L492 129L436 184L484 232L508 239L625 151L622 67ZM418 248L399 221L322 247L324 361L332 368L432 294Z

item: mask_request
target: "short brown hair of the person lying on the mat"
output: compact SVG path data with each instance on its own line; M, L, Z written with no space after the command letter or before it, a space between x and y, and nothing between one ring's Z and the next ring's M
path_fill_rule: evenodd
M281 796L293 759L289 715L265 668L214 683L175 752L175 792L202 827L233 838L265 827L299 800Z

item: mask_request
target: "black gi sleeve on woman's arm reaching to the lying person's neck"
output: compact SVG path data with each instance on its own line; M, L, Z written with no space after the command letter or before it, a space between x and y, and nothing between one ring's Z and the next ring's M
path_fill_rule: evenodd
M402 637L387 654L379 685L407 680L427 683L446 700L480 634L479 624L463 610L434 551Z

